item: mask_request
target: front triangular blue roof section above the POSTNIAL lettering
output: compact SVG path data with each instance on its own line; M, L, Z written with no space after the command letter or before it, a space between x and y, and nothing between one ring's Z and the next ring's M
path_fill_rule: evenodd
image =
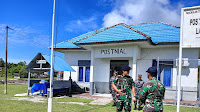
M149 37L142 32L139 32L126 24L120 23L78 40L75 44L146 40L148 38Z

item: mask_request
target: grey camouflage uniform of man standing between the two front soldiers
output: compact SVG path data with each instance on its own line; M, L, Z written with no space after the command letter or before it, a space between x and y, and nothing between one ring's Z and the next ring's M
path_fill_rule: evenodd
M135 94L136 94L136 96L138 96L138 93L142 89L143 84L144 84L143 80L135 81ZM140 107L140 105L141 105L140 101L138 103L139 103L139 107ZM136 107L137 101L135 101L134 104L135 104L135 107Z

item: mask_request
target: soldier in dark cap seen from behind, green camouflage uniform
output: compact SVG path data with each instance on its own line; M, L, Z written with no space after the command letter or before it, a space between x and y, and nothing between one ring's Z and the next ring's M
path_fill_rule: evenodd
M157 68L150 67L147 71L148 82L144 83L139 91L139 100L145 102L144 112L163 112L163 102L165 86L156 79Z

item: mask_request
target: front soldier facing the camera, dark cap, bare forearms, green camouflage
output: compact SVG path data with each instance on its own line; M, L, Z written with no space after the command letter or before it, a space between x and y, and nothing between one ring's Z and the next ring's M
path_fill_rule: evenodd
M131 91L135 98L135 83L133 79L129 76L129 70L131 68L127 65L122 67L123 74L118 75L114 83L112 84L113 89L117 92L117 112L121 112L124 108L125 112L131 111Z

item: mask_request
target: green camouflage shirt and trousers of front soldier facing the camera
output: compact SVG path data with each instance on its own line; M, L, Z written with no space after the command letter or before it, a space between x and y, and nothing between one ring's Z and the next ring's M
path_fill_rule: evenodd
M131 111L131 93L132 86L135 86L133 79L130 76L116 76L114 80L114 84L116 85L118 90L121 90L122 96L119 94L117 97L117 112L121 112L123 107L125 112Z

